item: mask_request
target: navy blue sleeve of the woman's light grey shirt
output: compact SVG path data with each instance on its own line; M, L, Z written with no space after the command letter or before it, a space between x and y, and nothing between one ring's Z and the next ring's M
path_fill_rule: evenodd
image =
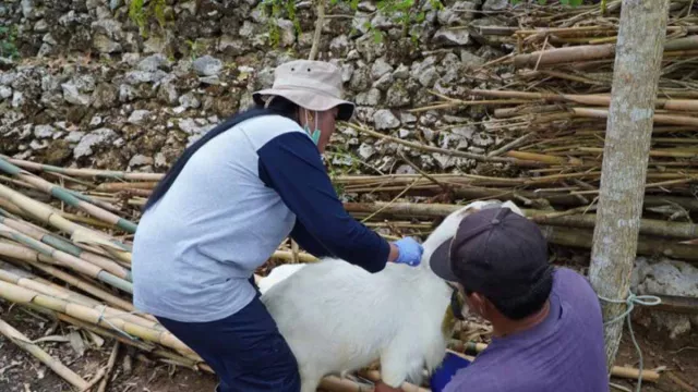
M274 137L257 150L260 179L296 213L291 237L314 256L333 256L377 272L387 241L353 219L337 197L317 147L300 132Z

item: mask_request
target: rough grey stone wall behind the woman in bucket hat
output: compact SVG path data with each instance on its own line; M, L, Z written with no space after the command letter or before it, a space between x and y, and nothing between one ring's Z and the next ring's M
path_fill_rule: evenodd
M257 0L146 1L144 23L122 0L5 0L0 23L16 29L21 58L0 62L3 154L51 164L164 171L182 148L269 86L276 65L306 58L314 9L299 2L294 23L269 19ZM433 102L430 89L462 96L484 85L477 68L507 52L477 34L505 25L478 11L506 0L419 7L424 20L407 36L389 15L361 2L327 11L318 58L342 69L357 118L377 131L422 144L482 152L498 142L473 125L481 107L408 112ZM152 5L161 5L156 10ZM376 42L365 22L383 32ZM160 24L165 22L164 24ZM329 155L337 167L368 159L384 172L409 171L396 144L340 130ZM402 148L401 146L399 147ZM405 150L434 171L469 171L476 162Z

